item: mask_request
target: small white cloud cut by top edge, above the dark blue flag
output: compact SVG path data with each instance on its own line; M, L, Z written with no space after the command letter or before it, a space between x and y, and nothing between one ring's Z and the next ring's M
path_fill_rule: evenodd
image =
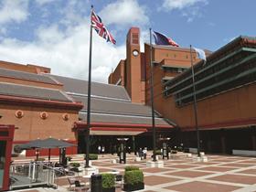
M184 9L188 6L196 4L208 4L208 0L164 0L163 5L161 6L162 10L171 11L174 9Z

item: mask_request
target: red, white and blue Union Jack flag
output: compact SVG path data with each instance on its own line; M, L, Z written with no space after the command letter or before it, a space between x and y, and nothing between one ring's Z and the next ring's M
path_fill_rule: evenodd
M112 42L115 44L116 41L112 37L112 34L108 31L108 29L104 26L101 21L101 17L97 16L94 11L91 11L91 27L95 29L95 31L99 34L99 36L105 38L107 42Z

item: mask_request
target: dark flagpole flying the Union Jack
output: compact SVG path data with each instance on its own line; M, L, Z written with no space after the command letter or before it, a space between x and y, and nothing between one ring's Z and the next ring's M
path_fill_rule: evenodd
M91 5L91 12L93 5ZM92 49L92 26L90 27L90 50L89 50L89 75L88 75L88 92L87 92L87 129L85 134L86 140L86 163L89 166L89 148L90 148L90 128L91 128L91 49Z

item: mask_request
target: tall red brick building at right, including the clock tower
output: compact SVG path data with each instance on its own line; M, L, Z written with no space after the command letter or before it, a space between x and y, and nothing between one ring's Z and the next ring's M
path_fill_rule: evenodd
M140 51L139 29L127 35L126 59L109 76L133 102L150 105L150 45ZM238 37L195 64L200 144L206 152L256 150L256 38ZM153 46L155 111L176 123L175 145L197 147L189 48ZM140 91L140 93L139 93ZM238 142L240 141L240 142Z

